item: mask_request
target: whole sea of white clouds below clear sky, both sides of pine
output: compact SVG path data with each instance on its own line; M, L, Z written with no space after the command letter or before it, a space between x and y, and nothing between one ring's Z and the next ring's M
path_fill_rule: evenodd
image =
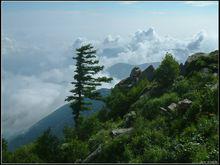
M170 52L179 62L195 52L217 49L217 40L200 31L186 39L160 36L153 28L138 30L129 38L107 36L103 40L76 38L64 45L36 44L2 37L2 124L9 138L25 131L44 116L65 104L74 74L74 49L92 43L100 64L160 62ZM99 75L108 75L103 71ZM110 88L119 80L102 87Z

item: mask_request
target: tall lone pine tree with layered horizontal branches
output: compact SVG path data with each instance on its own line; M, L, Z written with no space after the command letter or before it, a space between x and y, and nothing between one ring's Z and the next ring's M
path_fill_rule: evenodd
M104 69L104 66L99 66L99 61L96 60L96 50L91 44L81 46L76 49L76 72L74 79L71 82L74 84L74 89L70 92L71 96L68 96L65 101L71 102L70 107L73 110L75 127L78 127L80 112L83 110L89 110L91 102L85 101L83 98L100 99L99 92L96 91L96 87L100 86L102 82L110 82L112 78L93 76Z

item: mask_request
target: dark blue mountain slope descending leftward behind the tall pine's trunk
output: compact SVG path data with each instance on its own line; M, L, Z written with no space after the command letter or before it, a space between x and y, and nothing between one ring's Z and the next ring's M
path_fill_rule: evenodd
M102 96L107 96L110 92L110 89L102 88L99 89ZM90 100L90 99L88 99ZM99 111L104 103L102 101L91 100L92 102L92 110L83 111L82 116L89 116L97 111ZM65 104L55 110L53 113L44 117L32 127L30 127L24 133L8 140L8 149L13 151L14 149L28 144L34 141L37 137L39 137L47 128L51 128L53 134L57 137L63 136L63 128L65 126L73 126L73 115L72 110L69 107L69 104Z

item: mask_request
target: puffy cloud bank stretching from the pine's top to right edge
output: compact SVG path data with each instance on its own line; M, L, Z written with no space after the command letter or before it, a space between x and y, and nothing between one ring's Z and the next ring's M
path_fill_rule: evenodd
M160 36L154 28L138 30L128 40L120 36L107 36L103 42L96 41L99 48L99 59L105 67L118 62L134 65L150 62L160 62L166 52L172 53L179 62L185 62L190 54L198 51L212 51L217 48L204 30L186 39L176 39L171 36ZM80 42L79 42L80 41ZM83 45L92 42L87 39L76 39L74 45ZM93 43L93 42L92 42Z

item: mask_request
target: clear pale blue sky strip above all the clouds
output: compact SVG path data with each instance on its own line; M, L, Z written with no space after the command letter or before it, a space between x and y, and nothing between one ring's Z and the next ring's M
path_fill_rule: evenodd
M126 2L5 2L3 19L7 21L3 21L3 25L8 30L3 30L12 33L19 31L17 30L19 26L21 32L22 29L25 31L33 29L34 32L31 30L29 32L38 35L38 32L44 31L49 35L50 32L46 29L55 29L51 32L57 32L63 28L66 33L59 32L59 34L65 36L81 34L91 38L101 38L107 33L126 36L137 28L154 26L161 33L173 34L175 37L192 35L201 28L214 35L217 30L217 11L217 2L211 4L208 2L205 6L180 1L128 4ZM181 32L183 26L188 34ZM97 28L99 28L98 32Z

